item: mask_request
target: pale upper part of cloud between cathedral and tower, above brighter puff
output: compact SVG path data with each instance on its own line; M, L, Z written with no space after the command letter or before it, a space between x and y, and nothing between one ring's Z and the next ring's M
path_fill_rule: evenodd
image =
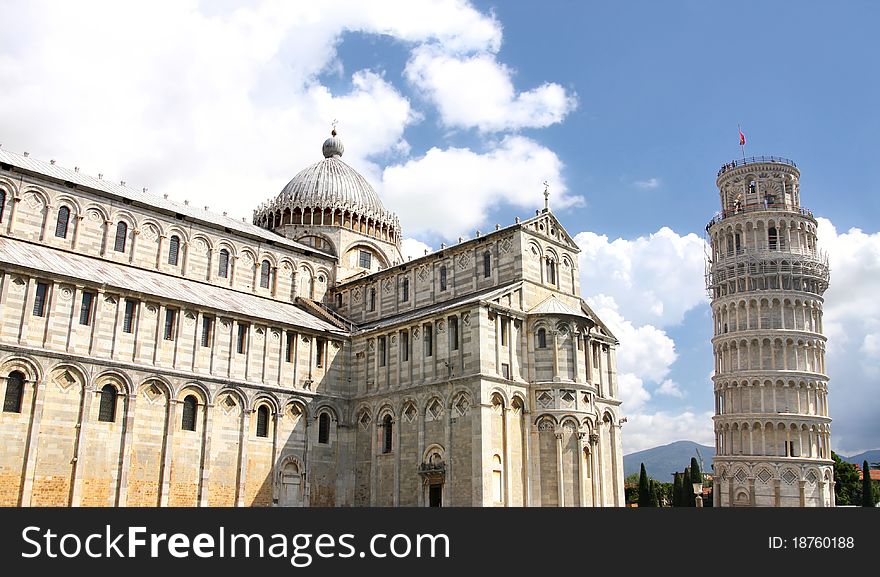
M636 325L669 326L707 302L703 275L705 242L663 227L635 240L608 240L582 232L581 286L590 295L614 295L620 314Z

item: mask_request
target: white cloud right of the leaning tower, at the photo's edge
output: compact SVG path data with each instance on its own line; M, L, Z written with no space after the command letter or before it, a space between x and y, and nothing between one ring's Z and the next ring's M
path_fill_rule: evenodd
M823 309L831 441L851 455L880 448L880 232L838 233L831 221L818 222L819 248L831 267Z

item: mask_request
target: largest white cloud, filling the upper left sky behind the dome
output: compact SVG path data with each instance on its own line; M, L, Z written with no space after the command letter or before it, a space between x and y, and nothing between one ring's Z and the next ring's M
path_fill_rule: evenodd
M418 120L377 71L343 70L347 31L388 34L404 49L497 51L501 25L461 0L330 4L35 1L4 6L0 126L11 150L249 216L258 199L320 160L334 118L346 160L405 154ZM108 48L112 47L112 48Z

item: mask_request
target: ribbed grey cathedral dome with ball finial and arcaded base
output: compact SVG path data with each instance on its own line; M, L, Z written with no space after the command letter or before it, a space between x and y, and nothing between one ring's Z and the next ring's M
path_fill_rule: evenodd
M324 141L324 159L294 176L274 200L254 211L254 224L341 226L400 243L400 222L358 171L342 161L345 146L334 130Z

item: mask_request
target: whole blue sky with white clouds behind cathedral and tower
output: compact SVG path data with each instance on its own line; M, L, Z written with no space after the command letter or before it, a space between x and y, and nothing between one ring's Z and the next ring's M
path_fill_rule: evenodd
M249 217L335 118L414 252L548 180L622 341L627 452L713 442L702 236L741 124L825 219L832 444L880 447L876 3L117 4L0 0L5 148Z

